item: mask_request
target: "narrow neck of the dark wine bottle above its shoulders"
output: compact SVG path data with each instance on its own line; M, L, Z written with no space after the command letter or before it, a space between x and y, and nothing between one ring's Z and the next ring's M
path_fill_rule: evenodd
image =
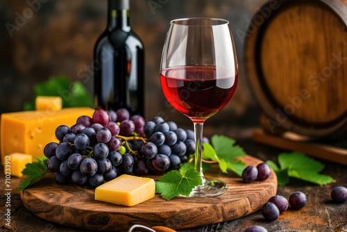
M129 0L108 0L108 31L130 31Z

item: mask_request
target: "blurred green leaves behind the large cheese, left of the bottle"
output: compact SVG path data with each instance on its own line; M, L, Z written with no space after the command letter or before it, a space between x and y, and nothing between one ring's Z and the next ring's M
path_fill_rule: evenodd
M92 97L85 89L83 83L71 83L67 76L51 76L47 81L34 85L35 97L58 96L62 98L62 107L89 107ZM35 99L24 103L24 110L35 110Z

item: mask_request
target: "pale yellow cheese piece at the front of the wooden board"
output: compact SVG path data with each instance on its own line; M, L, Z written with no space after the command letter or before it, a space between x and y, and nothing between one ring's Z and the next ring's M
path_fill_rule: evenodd
M135 206L154 197L151 178L123 174L95 189L95 199L124 206Z

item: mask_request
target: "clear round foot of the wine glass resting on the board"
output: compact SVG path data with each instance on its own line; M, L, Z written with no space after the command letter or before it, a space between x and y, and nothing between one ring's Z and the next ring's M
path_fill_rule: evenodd
M189 197L217 197L228 190L228 185L217 179L203 178L203 184L196 186Z

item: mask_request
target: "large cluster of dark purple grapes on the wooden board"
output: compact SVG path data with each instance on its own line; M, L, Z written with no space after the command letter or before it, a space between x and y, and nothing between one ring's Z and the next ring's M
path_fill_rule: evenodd
M58 126L44 147L47 169L59 184L96 188L120 174L164 174L178 169L195 152L194 132L154 117L145 122L125 108L95 110L73 126ZM205 141L207 139L205 138Z

